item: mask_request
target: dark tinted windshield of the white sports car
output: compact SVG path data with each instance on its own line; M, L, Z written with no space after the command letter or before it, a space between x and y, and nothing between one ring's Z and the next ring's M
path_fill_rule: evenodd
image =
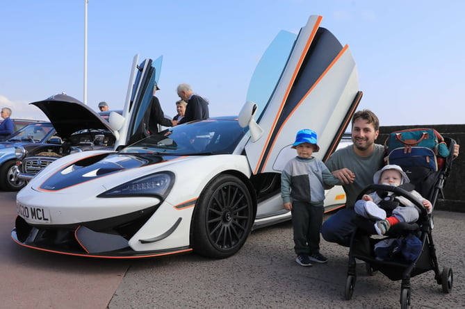
M120 153L177 156L232 153L243 135L237 119L206 119L161 131L131 144Z

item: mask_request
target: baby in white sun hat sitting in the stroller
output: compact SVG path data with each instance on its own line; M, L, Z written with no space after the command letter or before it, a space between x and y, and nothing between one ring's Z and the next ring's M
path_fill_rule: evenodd
M398 165L386 165L373 176L373 183L380 185L398 187L409 182L409 177ZM420 193L415 190L411 190L409 193L421 201L428 212L432 211L431 202L423 198ZM386 211L380 206L382 203L393 201L401 203L405 207L396 206L392 211L392 216L386 217ZM384 198L378 196L376 192L364 195L361 200L355 202L355 212L362 217L375 220L375 230L378 235L386 234L391 226L399 222L416 222L418 220L418 210L414 203L405 197L394 196L392 192L389 192L388 196Z

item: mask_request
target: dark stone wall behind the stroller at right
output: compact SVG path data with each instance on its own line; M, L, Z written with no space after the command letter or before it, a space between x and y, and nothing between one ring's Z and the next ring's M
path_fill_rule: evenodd
M421 125L421 126L382 126L380 135L376 142L384 144L386 137L393 131L405 130L407 128L434 128L444 137L450 137L460 144L465 141L465 124L441 124L441 125ZM450 176L444 185L444 198L439 197L436 209L465 212L465 146L462 145L459 157L453 160Z

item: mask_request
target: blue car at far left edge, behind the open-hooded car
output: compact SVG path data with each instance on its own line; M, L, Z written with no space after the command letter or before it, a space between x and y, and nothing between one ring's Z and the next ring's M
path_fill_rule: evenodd
M8 140L0 143L0 187L6 191L17 191L24 186L20 181L16 166L15 147L28 144L40 145L54 143L58 136L50 122L35 122L19 129L8 137Z

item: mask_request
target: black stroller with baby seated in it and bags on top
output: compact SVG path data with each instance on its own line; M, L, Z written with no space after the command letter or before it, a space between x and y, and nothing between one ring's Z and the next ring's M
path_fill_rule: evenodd
M419 137L412 137L414 133ZM428 136L437 137L432 147L423 146ZM427 128L398 131L390 137L387 165L375 173L375 183L360 192L354 205L359 216L353 222L357 229L350 240L345 299L352 299L358 259L366 262L368 274L379 271L401 281L401 308L408 308L414 276L433 270L443 292L452 290L452 268L439 268L432 212L451 171L455 140ZM438 151L440 146L446 151ZM400 180L389 183L384 178L388 174L397 174Z

